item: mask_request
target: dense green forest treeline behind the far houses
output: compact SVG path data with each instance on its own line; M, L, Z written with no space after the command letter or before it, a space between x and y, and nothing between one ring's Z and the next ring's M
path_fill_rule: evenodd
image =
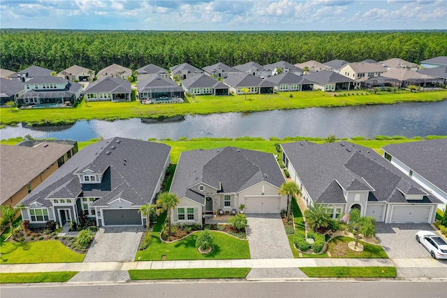
M168 69L314 59L420 62L447 56L446 31L68 31L2 29L1 68L38 65L54 71L77 64L98 71L112 63L133 70L149 63Z

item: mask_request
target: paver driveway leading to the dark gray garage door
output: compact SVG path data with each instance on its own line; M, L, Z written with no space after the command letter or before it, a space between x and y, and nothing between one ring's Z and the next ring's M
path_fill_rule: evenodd
M101 227L84 262L129 262L135 260L143 227Z

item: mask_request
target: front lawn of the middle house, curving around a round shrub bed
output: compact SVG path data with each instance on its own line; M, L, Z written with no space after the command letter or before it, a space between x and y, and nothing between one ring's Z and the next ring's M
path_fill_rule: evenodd
M159 239L159 233L152 232L152 239L146 250L137 252L135 260L137 261L159 261L163 255L165 260L231 260L231 259L249 259L249 242L236 239L227 234L212 232L214 245L211 253L205 255L198 252L196 248L196 239L198 233L176 241L173 243L164 243Z

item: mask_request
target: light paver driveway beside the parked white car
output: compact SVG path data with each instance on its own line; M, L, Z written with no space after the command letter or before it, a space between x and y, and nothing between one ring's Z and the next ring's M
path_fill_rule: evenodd
M386 224L376 222L376 238L393 259L418 259L430 257L427 250L416 242L416 232L421 229L434 232L429 224Z

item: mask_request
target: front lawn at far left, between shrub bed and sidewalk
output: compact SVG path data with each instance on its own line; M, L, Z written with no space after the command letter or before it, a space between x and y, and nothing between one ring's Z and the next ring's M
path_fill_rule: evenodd
M2 242L0 264L82 262L85 255L75 253L59 241Z

